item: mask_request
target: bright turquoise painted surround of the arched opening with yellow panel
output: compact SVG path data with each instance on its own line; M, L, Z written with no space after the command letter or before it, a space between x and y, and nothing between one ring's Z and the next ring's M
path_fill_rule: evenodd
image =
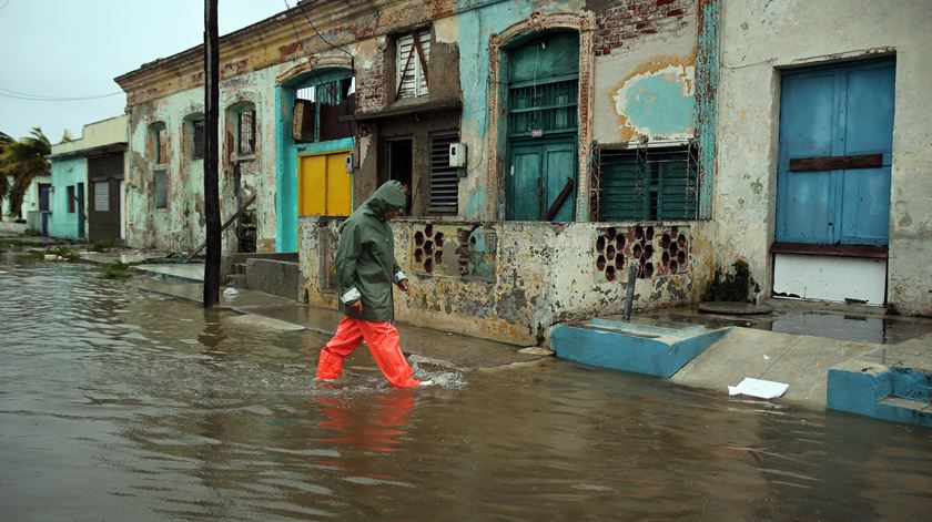
M276 89L275 146L278 151L275 165L275 205L278 211L275 237L276 252L297 252L297 155L352 150L355 146L355 140L352 137L318 143L294 143L292 139L292 124L294 123L292 110L294 108L295 88L325 83L341 78L346 78L346 71L333 70L313 74L313 82L308 82L308 75L304 75Z

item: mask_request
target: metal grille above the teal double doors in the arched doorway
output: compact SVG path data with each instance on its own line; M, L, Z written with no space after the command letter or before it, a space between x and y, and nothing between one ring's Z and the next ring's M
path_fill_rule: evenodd
M511 84L508 100L508 134L539 137L576 130L577 80L543 84Z

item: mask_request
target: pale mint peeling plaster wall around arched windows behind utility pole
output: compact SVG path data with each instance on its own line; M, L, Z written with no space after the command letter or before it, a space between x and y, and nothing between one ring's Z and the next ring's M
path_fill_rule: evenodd
M257 247L274 252L275 244L275 111L274 79L270 68L221 82L220 202L221 221L235 212L233 196L233 161L235 142L227 121L227 108L253 102L256 109L256 162L260 174L257 198ZM126 176L126 243L136 248L163 252L190 252L204 240L204 161L191 160L192 114L204 113L202 89L172 93L130 108L130 151ZM165 124L169 132L168 208L154 206L154 165L149 129ZM235 248L232 227L223 236L223 249Z

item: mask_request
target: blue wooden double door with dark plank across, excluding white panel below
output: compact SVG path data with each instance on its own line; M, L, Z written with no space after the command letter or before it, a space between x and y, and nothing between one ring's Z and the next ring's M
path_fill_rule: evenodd
M783 74L778 242L887 244L893 82L892 60Z

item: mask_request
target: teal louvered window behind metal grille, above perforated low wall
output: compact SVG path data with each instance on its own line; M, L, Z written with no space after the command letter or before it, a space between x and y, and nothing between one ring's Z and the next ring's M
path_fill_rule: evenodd
M698 147L599 152L599 221L696 219Z

